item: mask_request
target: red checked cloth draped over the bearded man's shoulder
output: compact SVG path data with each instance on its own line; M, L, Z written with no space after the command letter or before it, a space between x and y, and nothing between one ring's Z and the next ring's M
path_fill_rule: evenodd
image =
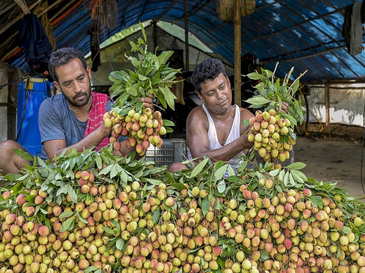
M103 123L104 114L107 108L107 102L109 97L105 94L91 92L92 106L88 118L88 124L86 126L85 137L91 132L95 131ZM104 138L97 149L105 147L109 144L109 138Z

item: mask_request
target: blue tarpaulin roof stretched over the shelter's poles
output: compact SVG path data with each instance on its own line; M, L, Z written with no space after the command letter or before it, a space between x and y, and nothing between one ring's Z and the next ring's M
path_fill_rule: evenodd
M364 51L351 56L342 37L344 10L352 0L257 0L250 16L241 18L242 54L251 53L264 67L283 76L295 66L294 76L308 70L304 82L364 78ZM100 43L138 21L158 19L184 28L183 0L120 0L118 27L100 34ZM213 52L234 63L233 20L222 21L214 0L188 0L189 32ZM57 47L90 51L92 24L84 3L53 27ZM364 36L363 36L364 37ZM363 38L364 39L364 38ZM27 68L24 53L12 65Z

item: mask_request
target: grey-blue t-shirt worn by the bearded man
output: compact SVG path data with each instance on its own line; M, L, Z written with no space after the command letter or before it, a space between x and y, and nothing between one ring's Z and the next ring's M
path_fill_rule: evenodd
M112 108L107 103L106 111ZM85 137L88 122L82 122L69 108L65 96L61 93L47 98L39 107L38 125L41 132L42 155L40 158L48 159L43 142L53 139L64 139L66 147L76 144ZM127 139L119 138L119 141Z

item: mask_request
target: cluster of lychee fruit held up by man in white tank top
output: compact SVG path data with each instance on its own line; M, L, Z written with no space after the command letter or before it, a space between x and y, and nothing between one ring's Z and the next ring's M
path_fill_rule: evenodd
M281 118L274 109L264 112L258 110L249 123L251 128L248 140L254 142L254 150L258 151L265 162L276 159L283 162L289 159L289 151L295 145L295 141L288 135L289 131L293 132L289 119ZM284 142L282 145L280 136L283 135L288 135L289 143Z

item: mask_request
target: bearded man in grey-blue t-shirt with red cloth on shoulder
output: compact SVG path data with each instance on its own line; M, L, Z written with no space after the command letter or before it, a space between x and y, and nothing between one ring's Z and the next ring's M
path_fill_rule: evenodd
M47 98L39 108L40 158L53 159L65 149L76 148L82 152L92 146L100 149L108 145L112 127L105 126L103 116L111 110L111 102L107 95L91 91L91 70L84 55L75 48L60 48L50 56L49 72L61 94ZM145 107L153 109L152 98L142 98L141 101ZM122 137L118 141L125 139ZM119 151L113 151L115 155L127 155L135 150L135 147L127 149L124 143L121 144ZM2 175L20 174L19 170L29 164L13 149L25 150L14 141L0 143Z

